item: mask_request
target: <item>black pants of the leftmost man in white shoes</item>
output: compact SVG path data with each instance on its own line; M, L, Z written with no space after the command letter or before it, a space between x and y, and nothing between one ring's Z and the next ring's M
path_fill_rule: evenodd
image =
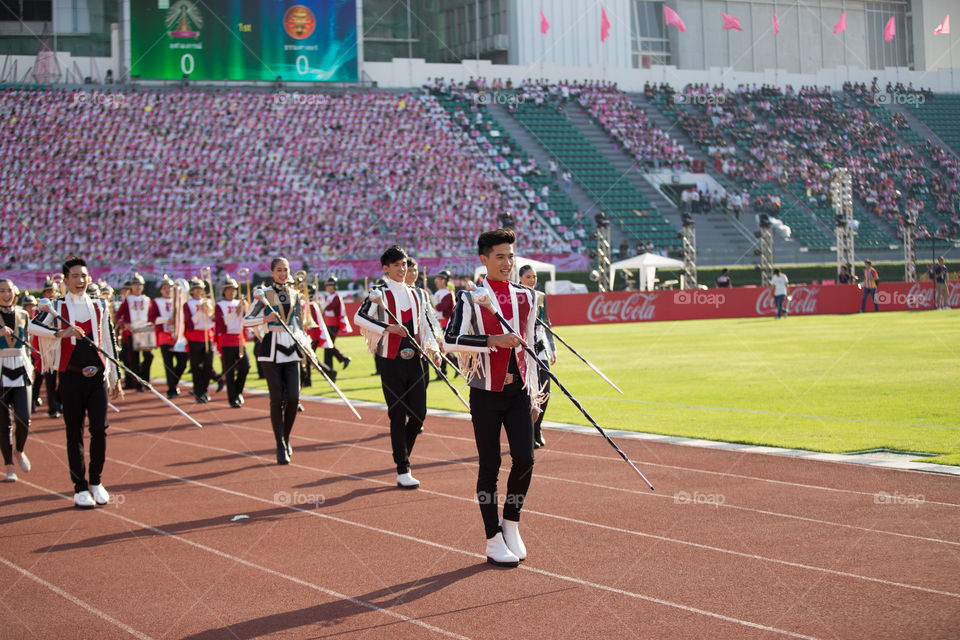
M103 461L107 453L107 388L103 374L84 378L79 373L60 374L63 398L63 423L67 428L67 460L70 479L76 493L91 484L100 484ZM83 455L83 419L90 422L90 482L87 483Z

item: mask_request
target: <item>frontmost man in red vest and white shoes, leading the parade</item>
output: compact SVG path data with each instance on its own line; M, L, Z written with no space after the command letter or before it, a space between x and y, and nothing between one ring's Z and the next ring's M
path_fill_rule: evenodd
M540 401L536 361L523 350L536 340L536 298L510 282L516 235L510 229L487 231L477 246L487 268L489 304L513 327L504 333L496 316L474 298L460 294L444 335L448 351L465 354L464 375L470 385L470 414L477 443L477 501L486 533L487 562L515 567L526 558L520 538L520 509L533 476L533 416ZM523 340L519 336L523 336ZM498 521L497 473L500 428L507 433L512 466L507 478L503 517Z

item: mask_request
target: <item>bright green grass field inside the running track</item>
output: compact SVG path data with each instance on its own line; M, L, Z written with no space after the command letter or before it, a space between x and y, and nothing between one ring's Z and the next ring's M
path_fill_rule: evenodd
M558 344L554 372L605 428L834 453L929 452L938 456L928 462L960 465L956 311L557 330L624 391L617 394ZM337 344L353 357L340 388L350 398L383 402L363 341ZM467 397L463 381L455 384ZM265 388L255 372L248 386ZM334 395L316 376L304 392ZM427 401L463 410L442 382L430 384ZM546 419L588 424L559 390Z

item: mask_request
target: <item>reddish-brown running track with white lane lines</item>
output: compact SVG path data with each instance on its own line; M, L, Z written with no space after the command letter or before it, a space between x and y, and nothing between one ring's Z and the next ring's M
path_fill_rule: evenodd
M601 438L548 430L529 559L498 569L468 421L428 416L403 491L380 408L305 403L281 467L264 396L179 402L202 430L119 403L95 511L72 507L62 423L35 417L34 470L0 485L0 635L960 635L956 478L622 440L651 493Z

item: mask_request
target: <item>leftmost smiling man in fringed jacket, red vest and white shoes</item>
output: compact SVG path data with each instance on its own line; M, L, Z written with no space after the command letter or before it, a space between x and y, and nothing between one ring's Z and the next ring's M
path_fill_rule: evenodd
M80 508L104 505L110 494L101 483L107 446L107 395L120 397L120 371L94 349L84 336L111 356L114 343L110 314L103 300L86 293L90 283L83 258L63 263L68 293L51 302L53 310L73 326L64 327L53 314L41 308L29 331L40 338L45 371L60 374L63 422L67 432L67 459L73 480L73 504ZM90 423L90 478L86 478L83 450L84 417Z

